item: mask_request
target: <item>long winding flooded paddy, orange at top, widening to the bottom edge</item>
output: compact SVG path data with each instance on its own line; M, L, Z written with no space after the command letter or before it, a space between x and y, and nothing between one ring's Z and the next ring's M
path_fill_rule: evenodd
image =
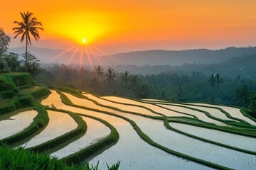
M74 101L73 101L74 102ZM42 101L42 104L50 105L54 103L57 108L62 108L75 113L84 113L97 118L106 120L119 132L119 141L116 145L102 152L90 161L90 164L97 164L100 161L100 169L106 168L106 162L109 165L121 161L120 169L208 169L206 166L189 162L186 159L178 158L168 154L161 149L152 147L144 142L137 132L127 121L111 115L97 113L82 108L65 106L61 103L60 96L52 91L52 94Z

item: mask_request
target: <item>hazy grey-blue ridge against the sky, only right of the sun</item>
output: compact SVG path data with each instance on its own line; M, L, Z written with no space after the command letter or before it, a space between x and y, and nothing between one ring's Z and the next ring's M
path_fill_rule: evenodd
M121 54L101 57L105 65L181 65L181 64L213 64L229 60L232 57L252 55L256 53L256 47L228 47L223 50L149 50L139 52L126 52Z

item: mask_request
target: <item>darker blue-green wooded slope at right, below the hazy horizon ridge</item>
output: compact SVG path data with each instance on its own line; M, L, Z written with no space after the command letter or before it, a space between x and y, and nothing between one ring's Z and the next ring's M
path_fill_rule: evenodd
M222 74L228 77L256 79L256 53L242 57L231 57L229 60L217 64L182 64L171 65L118 65L114 67L117 72L128 70L132 74L159 74L161 72L177 72L180 74L202 72L203 74Z

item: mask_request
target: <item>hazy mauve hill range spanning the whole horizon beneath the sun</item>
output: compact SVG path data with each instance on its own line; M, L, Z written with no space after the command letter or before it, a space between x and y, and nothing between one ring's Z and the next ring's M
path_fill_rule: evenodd
M29 51L33 55L36 55L42 62L58 62L68 64L70 57L74 52L65 52L64 50L52 50L48 48L38 48L29 46ZM17 52L22 54L25 47L18 47L10 49L10 52ZM100 62L96 57L90 58L92 65L103 66L117 66L122 65L182 65L185 63L201 63L201 64L217 64L229 60L232 57L241 57L244 55L252 55L256 53L256 47L228 47L222 50L181 50L181 51L169 51L169 50L148 50L137 52L125 52L114 55L106 55L99 57ZM62 55L60 55L62 54ZM73 56L71 63L80 63L81 52L77 52ZM90 61L87 55L84 53L82 57L82 64L89 65Z

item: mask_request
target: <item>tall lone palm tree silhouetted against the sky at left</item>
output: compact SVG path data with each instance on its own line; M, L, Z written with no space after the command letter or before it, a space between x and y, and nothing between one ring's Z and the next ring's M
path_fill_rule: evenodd
M43 26L41 22L39 22L37 20L37 18L33 17L33 13L31 12L24 12L21 13L21 18L22 21L18 22L18 21L14 21L14 23L16 23L18 25L18 27L14 27L14 33L16 34L14 36L14 38L17 38L18 35L21 35L21 42L23 42L23 40L26 40L26 64L25 64L25 68L26 68L26 72L28 71L28 45L31 45L31 36L33 35L33 38L36 39L36 41L38 39L40 39L40 35L38 30L43 30L43 28L41 28L40 26Z

